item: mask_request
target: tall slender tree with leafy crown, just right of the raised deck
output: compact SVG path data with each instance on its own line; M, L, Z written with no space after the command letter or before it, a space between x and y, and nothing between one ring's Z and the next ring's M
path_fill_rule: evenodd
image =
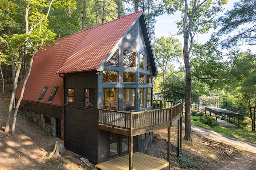
M183 34L183 59L186 70L186 99L185 99L185 136L184 139L192 141L191 136L191 66L190 53L194 45L196 34L207 33L210 28L216 28L216 15L222 11L222 5L226 0L165 0L165 5L169 13L176 10L182 12L182 20L178 21L180 31Z

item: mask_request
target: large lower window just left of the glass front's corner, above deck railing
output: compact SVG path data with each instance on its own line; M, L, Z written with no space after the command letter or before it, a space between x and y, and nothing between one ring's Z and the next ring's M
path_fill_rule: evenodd
M135 110L135 89L123 89L122 111Z

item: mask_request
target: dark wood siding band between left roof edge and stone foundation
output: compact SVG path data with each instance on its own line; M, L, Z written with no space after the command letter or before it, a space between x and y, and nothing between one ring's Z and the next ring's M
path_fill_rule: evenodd
M62 119L62 107L47 103L22 100L20 108Z

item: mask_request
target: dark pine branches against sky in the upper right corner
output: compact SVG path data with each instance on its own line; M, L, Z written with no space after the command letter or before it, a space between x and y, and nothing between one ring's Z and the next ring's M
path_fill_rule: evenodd
M240 0L234 4L232 10L219 18L219 35L229 35L222 42L224 47L234 47L236 44L255 44L256 24L255 0Z

